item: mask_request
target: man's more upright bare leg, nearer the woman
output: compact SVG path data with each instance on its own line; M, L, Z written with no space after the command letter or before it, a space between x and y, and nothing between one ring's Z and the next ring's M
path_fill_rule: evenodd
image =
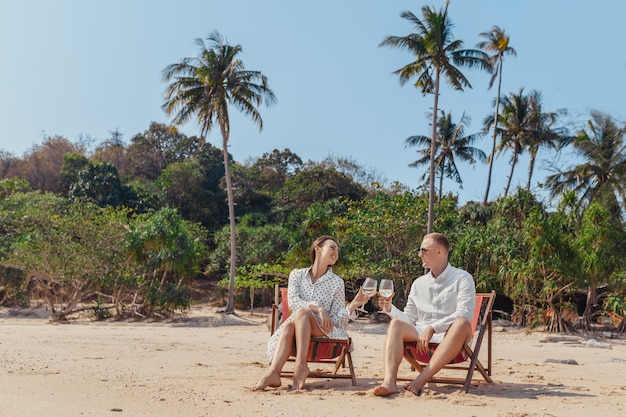
M416 341L418 338L419 334L411 324L398 319L391 320L383 346L384 379L382 384L374 388L374 395L386 397L398 392L396 382L404 356L404 342Z

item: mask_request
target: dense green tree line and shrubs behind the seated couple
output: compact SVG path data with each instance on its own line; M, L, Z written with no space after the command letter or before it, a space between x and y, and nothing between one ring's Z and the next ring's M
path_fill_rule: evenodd
M622 130L614 139L623 137ZM11 169L0 180L0 302L42 300L58 320L85 306L99 317L148 317L188 308L193 280L228 282L222 159L208 143L175 152L195 141L153 123L128 145L106 140L86 152L52 137L22 158L3 159ZM347 291L365 276L393 279L402 305L423 273L416 251L428 229L426 183L385 185L356 161L305 162L288 149L231 165L241 307L271 302L273 285L306 263L320 234L340 243L336 269ZM626 294L623 220L612 199L594 195L586 202L567 191L548 209L524 187L461 207L443 193L434 227L450 236L451 262L472 273L479 290L513 300L520 324L549 317L549 328L569 331L565 317L575 312L584 318L578 325L591 327L609 312L623 315ZM599 287L608 290L601 299Z

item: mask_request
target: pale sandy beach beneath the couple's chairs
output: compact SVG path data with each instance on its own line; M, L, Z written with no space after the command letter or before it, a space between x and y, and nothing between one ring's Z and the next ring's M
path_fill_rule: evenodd
M505 324L494 326L495 382L468 394L429 384L420 397L375 397L386 324L366 319L349 328L358 386L309 379L291 392L284 378L251 392L267 365L267 313L198 305L167 322L52 324L45 310L0 308L0 416L626 415L626 340Z

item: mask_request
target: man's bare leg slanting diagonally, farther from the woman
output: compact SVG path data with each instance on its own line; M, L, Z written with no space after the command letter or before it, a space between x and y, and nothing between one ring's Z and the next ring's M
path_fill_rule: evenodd
M404 384L404 389L419 395L420 390L428 380L441 368L446 366L459 354L463 344L472 340L472 327L464 318L458 318L452 323L443 340L430 358L428 365L410 383Z

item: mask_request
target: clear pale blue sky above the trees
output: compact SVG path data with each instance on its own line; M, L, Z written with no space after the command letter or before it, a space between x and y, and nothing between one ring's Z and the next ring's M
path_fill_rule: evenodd
M96 141L119 130L128 142L151 122L168 123L161 109L162 70L197 54L196 38L218 30L243 47L247 69L270 80L278 102L261 107L264 130L231 112L230 152L245 162L289 148L305 160L350 157L388 181L421 185L423 169L405 148L411 135L430 135L432 96L400 86L393 71L412 60L379 48L388 35L413 31L400 13L421 17L422 5L445 0L0 0L0 150L16 156L45 136ZM504 63L502 92L538 90L545 111L568 110L574 126L598 109L626 120L626 3L619 0L452 0L453 33L474 48L478 34L499 25L517 57ZM495 88L489 76L464 70L473 89L444 88L440 108L478 132L490 114ZM195 124L181 129L199 134ZM216 131L208 140L220 146ZM488 153L491 136L477 147ZM509 155L497 160L490 199L501 195ZM545 175L549 154L540 154L533 189ZM561 164L571 160L561 158ZM482 201L487 165L461 165L463 189L444 191L461 203ZM525 184L528 160L516 168Z

